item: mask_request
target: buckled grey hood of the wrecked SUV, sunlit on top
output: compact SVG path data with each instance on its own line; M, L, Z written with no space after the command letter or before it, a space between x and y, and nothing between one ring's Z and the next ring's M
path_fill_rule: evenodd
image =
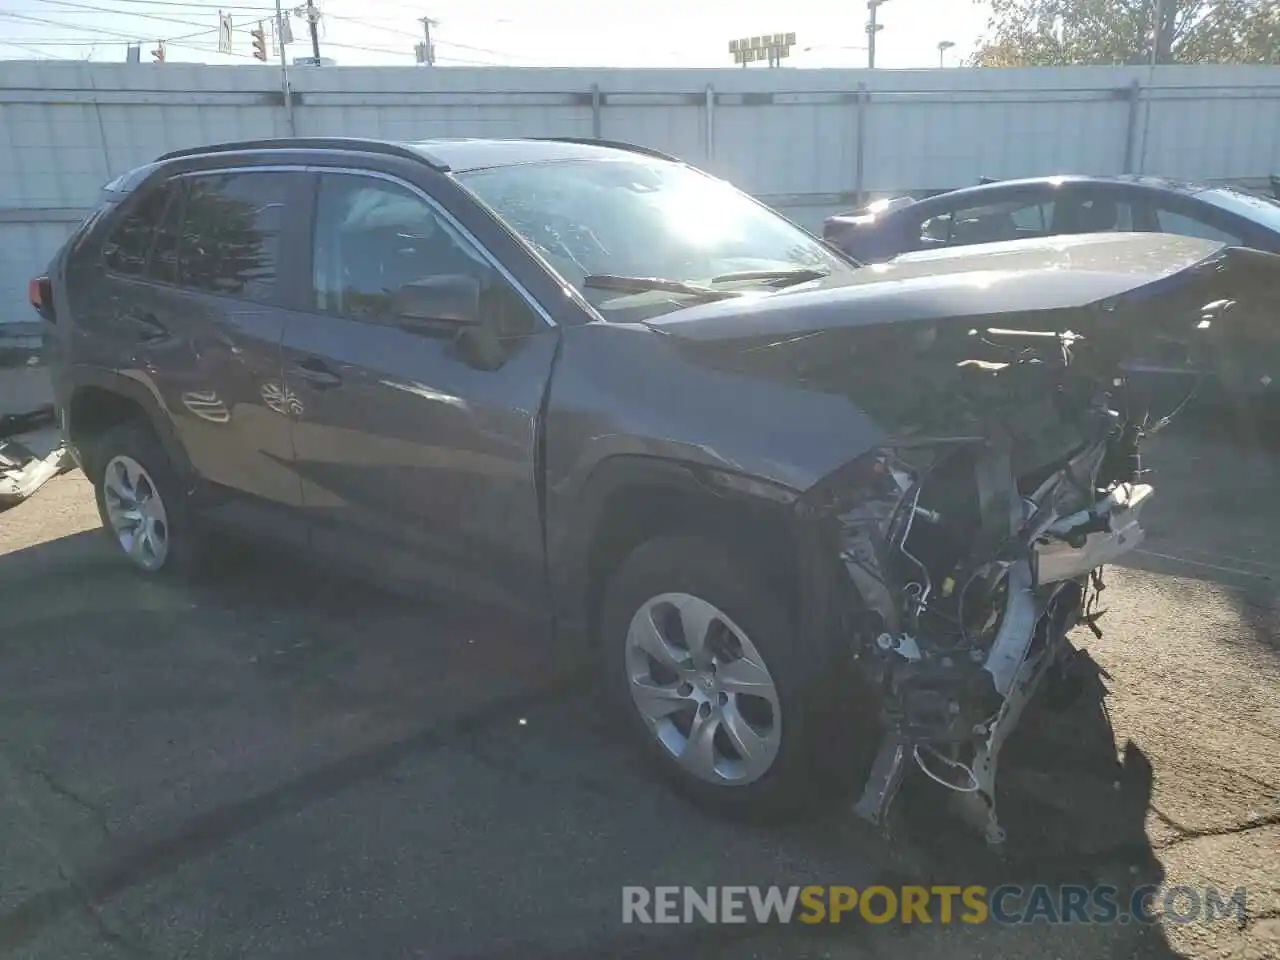
M1094 305L1114 308L1114 301L1162 294L1211 275L1224 255L1245 252L1254 253L1160 233L986 243L908 253L773 296L678 310L648 325L687 340L736 340Z

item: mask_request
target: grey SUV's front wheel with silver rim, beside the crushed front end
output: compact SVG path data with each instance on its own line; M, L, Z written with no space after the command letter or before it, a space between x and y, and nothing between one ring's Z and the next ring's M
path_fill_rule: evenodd
M636 548L607 586L600 643L627 735L698 805L776 817L820 799L824 671L740 552L687 536Z

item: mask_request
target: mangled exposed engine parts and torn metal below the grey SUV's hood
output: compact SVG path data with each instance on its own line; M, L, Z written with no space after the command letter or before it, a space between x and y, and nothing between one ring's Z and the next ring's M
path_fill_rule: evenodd
M855 809L883 822L914 764L1000 844L1001 748L1069 654L1068 631L1101 636L1102 567L1142 541L1152 486L1146 416L1121 379L1073 362L1082 338L969 335L1009 358L956 364L947 398L922 398L942 430L890 438L844 479L859 490L840 513L863 620L854 655L884 723Z

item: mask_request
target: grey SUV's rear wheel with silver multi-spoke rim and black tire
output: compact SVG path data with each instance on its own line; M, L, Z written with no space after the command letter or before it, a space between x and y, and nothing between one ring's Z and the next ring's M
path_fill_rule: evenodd
M134 570L180 579L201 572L204 538L191 520L179 474L150 426L113 426L92 445L84 467L102 530Z

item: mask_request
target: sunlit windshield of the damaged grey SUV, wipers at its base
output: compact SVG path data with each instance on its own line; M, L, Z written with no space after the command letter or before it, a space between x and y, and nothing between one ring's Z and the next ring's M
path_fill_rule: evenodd
M472 170L458 179L593 305L626 311L627 319L687 306L692 293L676 289L680 284L772 289L852 269L730 184L680 164L563 160ZM599 284L602 276L668 283L645 291Z

